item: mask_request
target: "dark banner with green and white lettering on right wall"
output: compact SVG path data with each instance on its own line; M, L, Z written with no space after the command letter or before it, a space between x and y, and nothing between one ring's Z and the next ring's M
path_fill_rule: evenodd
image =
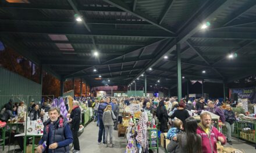
M229 97L231 97L231 94L237 93L238 99L248 99L250 103L254 104L256 103L256 93L255 93L255 87L251 88L230 88L229 89Z

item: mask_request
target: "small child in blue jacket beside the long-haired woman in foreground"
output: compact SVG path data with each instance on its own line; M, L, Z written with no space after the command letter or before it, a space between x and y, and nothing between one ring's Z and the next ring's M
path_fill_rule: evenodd
M177 140L177 134L182 133L182 121L180 119L175 118L175 120L172 122L173 123L173 128L170 128L166 138L169 140Z

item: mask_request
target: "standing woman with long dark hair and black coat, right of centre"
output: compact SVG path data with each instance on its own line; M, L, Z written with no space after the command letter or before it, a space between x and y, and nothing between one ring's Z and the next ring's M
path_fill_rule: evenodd
M161 132L165 132L165 130L168 129L168 126L167 126L168 114L167 114L167 110L165 108L165 103L163 102L163 100L159 101L159 104L157 107L157 118L161 123L160 125Z

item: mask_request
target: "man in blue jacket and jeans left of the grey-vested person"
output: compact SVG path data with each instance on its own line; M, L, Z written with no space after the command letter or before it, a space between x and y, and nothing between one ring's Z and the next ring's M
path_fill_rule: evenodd
M109 105L110 103L110 99L109 97L107 97L105 99L104 103L100 103L99 107L98 107L98 116L99 116L99 134L98 134L98 144L101 144L102 141L102 134L103 134L103 143L105 143L105 129L104 129L104 124L102 121L102 116L103 116L103 112L106 108L106 105Z

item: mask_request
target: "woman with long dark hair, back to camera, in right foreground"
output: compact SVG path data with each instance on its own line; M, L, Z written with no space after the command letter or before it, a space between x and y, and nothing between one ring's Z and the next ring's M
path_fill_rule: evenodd
M186 119L186 132L177 134L177 141L171 140L167 151L172 153L202 153L201 137L197 134L197 121L193 117Z

